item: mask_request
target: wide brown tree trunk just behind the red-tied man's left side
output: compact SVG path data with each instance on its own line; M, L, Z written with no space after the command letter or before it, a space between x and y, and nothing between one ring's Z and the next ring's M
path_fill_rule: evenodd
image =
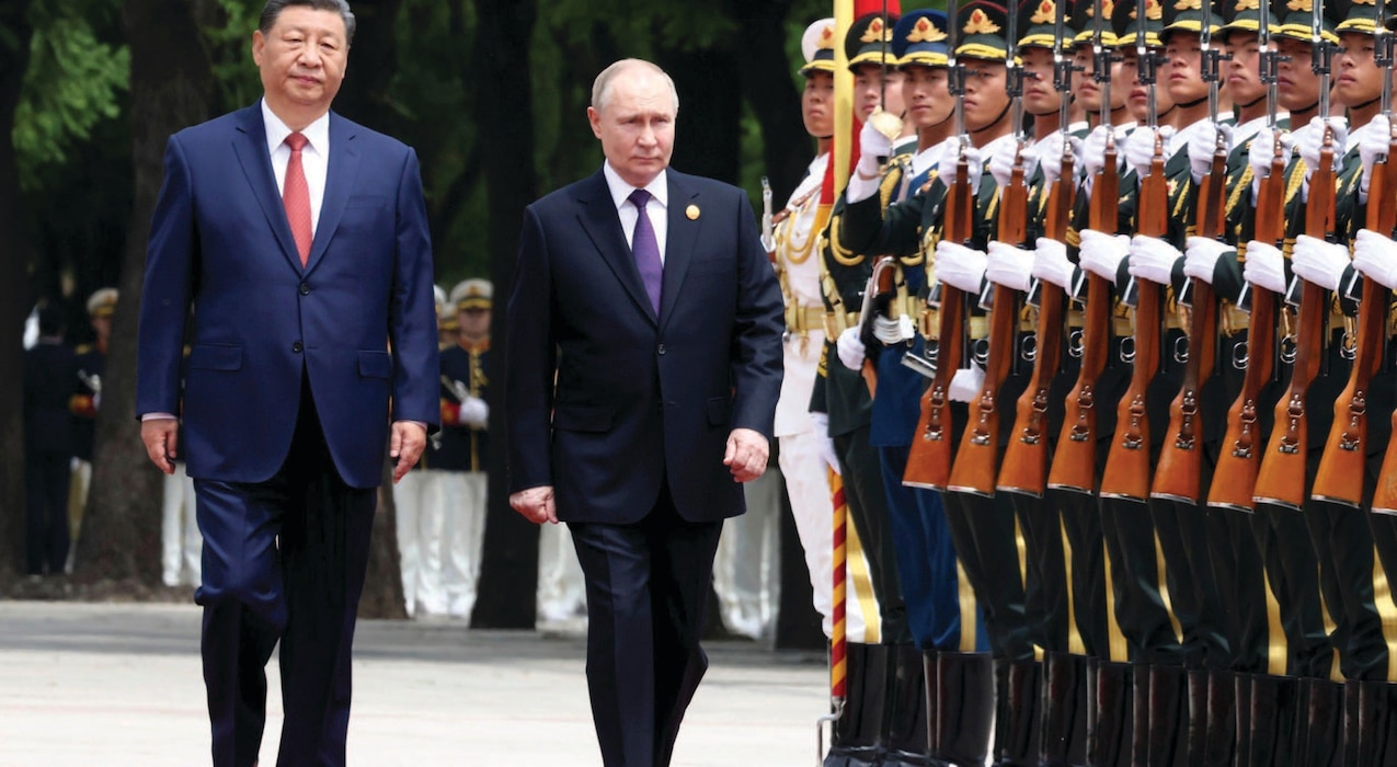
M168 137L208 119L214 78L200 34L197 0L126 0L131 45L131 165L134 194L122 300L112 323L102 409L96 422L92 490L78 539L77 574L158 584L161 478L145 457L136 421L136 326L145 243L163 180Z

